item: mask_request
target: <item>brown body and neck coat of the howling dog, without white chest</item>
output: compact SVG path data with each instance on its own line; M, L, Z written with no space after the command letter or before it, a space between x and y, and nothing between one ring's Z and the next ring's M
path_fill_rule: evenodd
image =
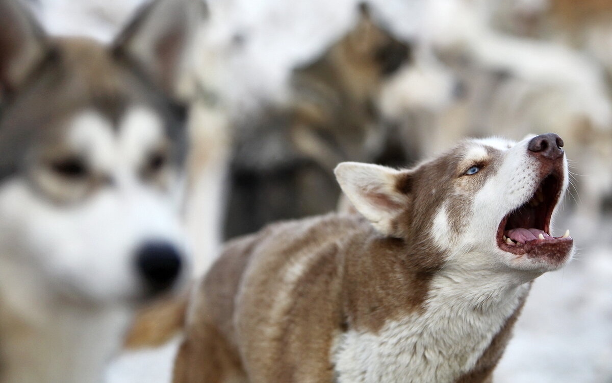
M398 257L403 247L356 214L290 221L229 243L192 303L175 382L226 382L215 363L194 362L204 353L234 367L241 360L252 382L331 382L336 335L420 309L431 265Z

